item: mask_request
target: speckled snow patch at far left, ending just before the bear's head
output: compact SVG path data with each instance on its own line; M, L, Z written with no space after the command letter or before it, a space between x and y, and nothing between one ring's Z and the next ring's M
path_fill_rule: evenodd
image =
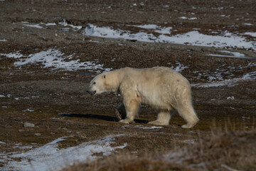
M73 55L65 56L64 53L49 48L47 50L31 54L27 56L27 58L21 58L23 56L21 53L0 53L1 56L6 56L9 58L18 58L19 60L14 63L14 66L25 66L28 63L30 64L38 64L43 65L43 68L53 68L60 69L65 71L77 71L78 69L87 69L89 71L100 72L110 71L111 68L103 68L103 65L96 64L93 61L80 62L78 60L72 60Z

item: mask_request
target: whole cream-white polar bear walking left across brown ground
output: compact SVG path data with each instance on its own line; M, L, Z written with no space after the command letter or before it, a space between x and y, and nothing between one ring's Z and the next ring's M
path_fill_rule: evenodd
M192 128L199 121L191 102L190 83L171 68L121 68L101 73L90 81L87 93L104 92L121 93L123 103L117 113L125 110L126 118L120 123L133 123L141 104L159 111L157 119L149 124L169 125L172 110L177 110L186 121L182 128Z

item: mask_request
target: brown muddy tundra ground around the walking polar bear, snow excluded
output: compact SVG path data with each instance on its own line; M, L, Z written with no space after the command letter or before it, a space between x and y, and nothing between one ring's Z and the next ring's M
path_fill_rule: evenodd
M227 47L252 59L218 58L220 48L186 46L171 43L146 43L82 34L87 24L125 28L129 24L173 26L176 33L201 28L201 33L228 30L256 32L253 1L0 1L0 53L19 51L24 56L48 48L65 55L75 54L80 61L95 61L104 68L148 68L153 66L188 66L181 74L192 84L193 105L200 118L195 128L184 130L183 119L174 115L169 126L159 130L139 129L156 118L156 111L143 105L133 125L118 123L114 111L122 103L118 93L90 96L86 88L96 71L63 71L44 68L42 63L15 67L16 58L0 55L0 153L22 151L14 145L38 147L56 138L73 135L62 147L78 145L105 135L125 134L127 151L174 150L186 140L198 142L198 135L210 135L211 127L250 130L255 127L256 81L238 79L224 86L196 86L210 81L242 78L256 70L253 49ZM134 4L137 4L136 6ZM143 4L143 5L142 5ZM175 5L174 5L175 4ZM193 8L193 6L196 8ZM180 16L196 16L183 20ZM228 17L219 17L225 15ZM237 19L240 20L237 20ZM82 26L80 30L62 26L34 28L24 22L40 24L62 22ZM247 25L250 23L252 25ZM136 30L134 30L136 32ZM252 36L248 40L255 41ZM103 71L103 70L102 70ZM203 76L198 77L198 71ZM222 79L215 77L222 71ZM213 76L213 79L209 78ZM34 128L24 128L23 123ZM142 138L144 137L144 138ZM32 143L32 144L31 144ZM0 162L4 167L8 161Z

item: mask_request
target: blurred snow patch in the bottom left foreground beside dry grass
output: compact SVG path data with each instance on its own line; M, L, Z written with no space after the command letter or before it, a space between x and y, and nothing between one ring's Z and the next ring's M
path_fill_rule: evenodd
M110 155L117 149L127 146L123 145L113 147L115 138L122 135L107 136L101 140L92 142L84 142L75 147L58 149L58 142L65 138L58 138L49 142L42 147L21 152L14 155L0 154L0 160L7 162L2 170L21 170L21 171L45 171L45 170L61 170L63 167L73 165L75 162L86 162L87 160L95 160L95 153L102 152L103 155ZM20 161L10 160L11 157L17 157Z

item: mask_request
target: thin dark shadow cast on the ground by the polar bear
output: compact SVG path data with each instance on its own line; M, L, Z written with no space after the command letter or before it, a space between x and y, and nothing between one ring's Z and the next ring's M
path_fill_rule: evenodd
M108 115L95 115L95 114L78 114L78 113L62 113L58 114L59 116L67 116L67 117L74 117L74 118L93 118L99 120L105 120L109 122L118 122L119 120L114 116ZM149 120L139 120L134 119L135 123L149 123Z

